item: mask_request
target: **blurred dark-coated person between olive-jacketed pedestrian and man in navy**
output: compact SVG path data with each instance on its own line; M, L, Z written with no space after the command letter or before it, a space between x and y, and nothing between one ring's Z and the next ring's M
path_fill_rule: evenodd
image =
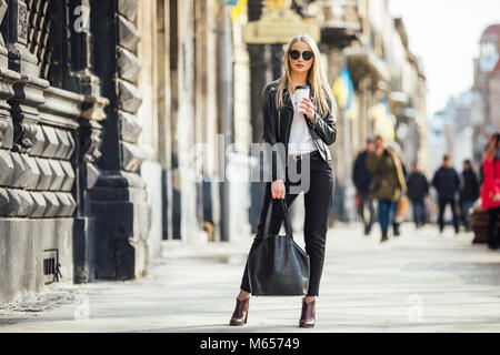
M408 178L408 199L413 210L413 222L417 229L426 224L426 204L424 199L429 195L429 183L426 175L420 172L419 164L413 163L412 171Z

